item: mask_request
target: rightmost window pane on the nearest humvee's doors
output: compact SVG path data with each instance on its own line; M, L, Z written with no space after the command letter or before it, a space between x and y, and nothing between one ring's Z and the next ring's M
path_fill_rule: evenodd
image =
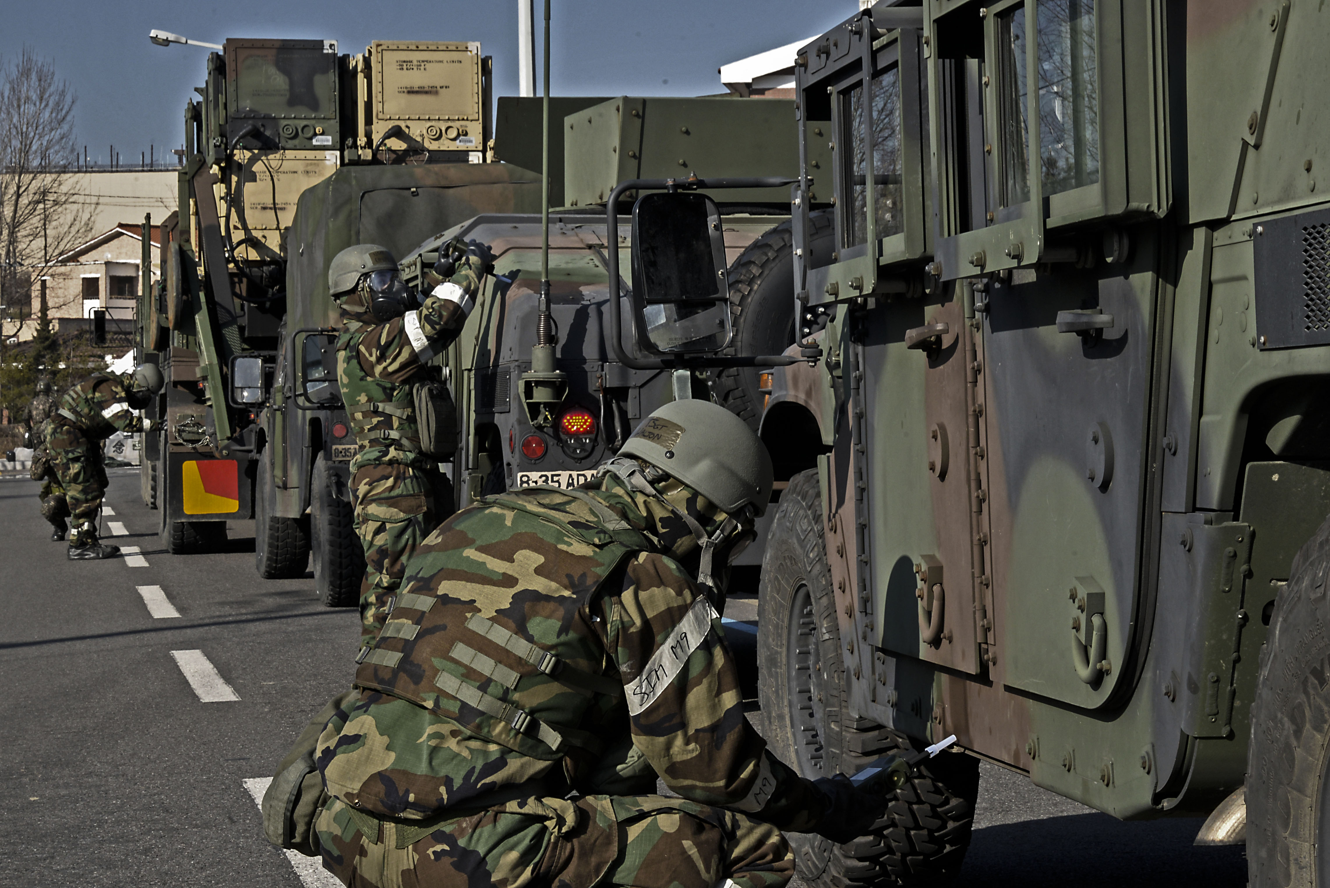
M1039 3L1039 145L1044 194L1099 181L1095 0Z

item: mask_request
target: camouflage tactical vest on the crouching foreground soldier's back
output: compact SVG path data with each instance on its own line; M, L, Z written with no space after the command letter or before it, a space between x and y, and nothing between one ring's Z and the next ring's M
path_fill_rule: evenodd
M475 545L442 549L467 538ZM378 642L362 651L355 684L533 759L575 747L598 754L597 738L577 726L624 687L579 611L629 555L653 549L646 538L587 491L535 487L488 498L431 539L440 550L418 550L415 582L408 575ZM489 549L520 567L487 567Z

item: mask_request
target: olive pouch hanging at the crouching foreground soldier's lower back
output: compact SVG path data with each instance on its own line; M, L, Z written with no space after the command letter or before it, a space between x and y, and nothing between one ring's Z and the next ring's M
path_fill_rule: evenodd
M277 766L277 775L267 785L261 805L263 835L274 845L298 851L309 857L319 856L314 821L327 803L329 795L323 788L323 775L314 764L314 751L323 726L356 695L358 692L352 690L332 698L332 702L305 726L295 746Z

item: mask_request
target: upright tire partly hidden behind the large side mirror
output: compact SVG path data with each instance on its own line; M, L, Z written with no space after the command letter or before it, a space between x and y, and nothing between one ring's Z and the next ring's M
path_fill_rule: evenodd
M831 217L814 213L809 224L814 256L833 245ZM749 244L728 273L734 339L724 354L781 354L794 345L794 233L777 225ZM758 375L766 367L728 367L712 379L712 395L757 431L766 399Z

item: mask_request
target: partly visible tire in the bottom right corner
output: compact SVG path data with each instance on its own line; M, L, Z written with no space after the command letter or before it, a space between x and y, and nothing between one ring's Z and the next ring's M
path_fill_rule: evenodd
M1330 884L1330 519L1275 599L1248 747L1252 888Z

